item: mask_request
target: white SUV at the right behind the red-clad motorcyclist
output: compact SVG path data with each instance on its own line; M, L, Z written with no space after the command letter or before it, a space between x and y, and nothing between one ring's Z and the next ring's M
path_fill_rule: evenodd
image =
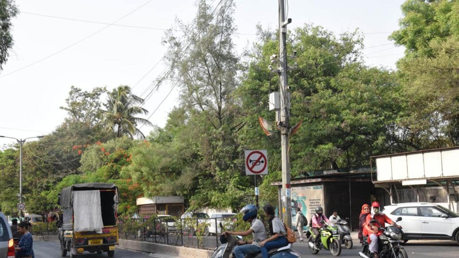
M438 239L459 243L459 214L430 202L405 202L384 207L384 214L403 226L404 240Z

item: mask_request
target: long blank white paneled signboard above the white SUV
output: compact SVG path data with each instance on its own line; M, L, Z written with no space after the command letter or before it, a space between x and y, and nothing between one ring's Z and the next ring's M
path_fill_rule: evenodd
M459 148L376 157L376 182L459 177L457 160Z

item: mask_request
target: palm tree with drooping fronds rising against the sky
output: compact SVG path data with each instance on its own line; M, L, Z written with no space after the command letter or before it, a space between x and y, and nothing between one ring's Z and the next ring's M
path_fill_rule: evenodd
M134 138L134 135L145 138L137 125L151 126L153 124L145 118L135 117L137 114L146 115L148 113L148 110L140 107L143 102L142 98L132 94L131 88L127 85L120 85L112 92L108 92L108 100L105 105L107 110L103 110L101 113L105 130L116 132L117 137L128 134L131 138Z

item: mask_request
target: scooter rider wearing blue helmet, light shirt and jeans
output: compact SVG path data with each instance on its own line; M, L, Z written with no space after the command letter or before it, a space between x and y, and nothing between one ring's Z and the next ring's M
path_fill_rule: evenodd
M241 209L241 213L244 213L242 219L245 222L250 222L250 229L247 231L225 231L224 236L227 234L238 235L238 236L248 236L252 233L253 240L249 241L239 241L239 245L233 249L233 257L235 258L244 258L246 254L252 254L260 252L260 243L266 239L266 230L264 228L263 222L257 219L257 207L253 204L246 205ZM247 245L250 244L250 245Z

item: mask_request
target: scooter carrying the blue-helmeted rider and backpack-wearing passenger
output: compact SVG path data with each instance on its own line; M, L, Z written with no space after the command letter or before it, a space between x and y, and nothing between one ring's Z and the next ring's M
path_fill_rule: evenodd
M223 224L220 222L221 232L226 231ZM220 242L222 243L219 247L215 248L212 258L229 258L233 252L233 248L237 246L238 241L242 239L242 236L220 236ZM271 249L268 252L269 258L301 258L301 255L291 249L291 244L279 249ZM254 254L247 254L246 258L261 258L261 252Z

